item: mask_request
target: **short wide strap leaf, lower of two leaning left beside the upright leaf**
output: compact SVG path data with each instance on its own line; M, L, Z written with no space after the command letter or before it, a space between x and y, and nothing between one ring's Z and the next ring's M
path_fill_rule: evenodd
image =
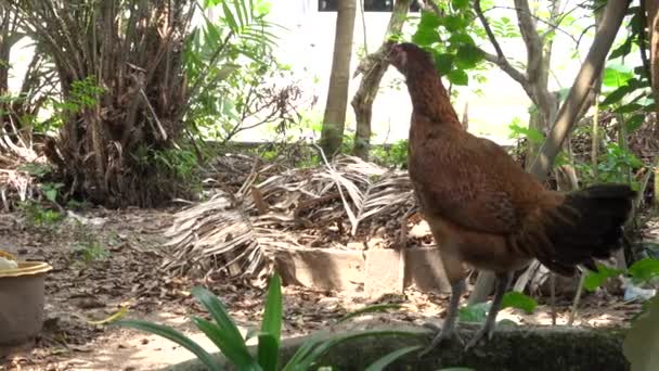
M236 342L217 324L203 318L192 317L192 322L220 349L220 351L240 370L260 370L256 359L251 357L244 341Z

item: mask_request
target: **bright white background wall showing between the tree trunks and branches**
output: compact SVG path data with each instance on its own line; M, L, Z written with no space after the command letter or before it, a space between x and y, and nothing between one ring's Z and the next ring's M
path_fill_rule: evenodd
M506 2L509 2L508 7L513 7L513 1ZM505 7L505 3L502 1L501 5ZM336 13L318 12L316 9L316 0L276 1L272 7L270 20L288 29L281 35L277 56L282 62L293 65L294 71L305 77L307 81L305 86L319 95L314 112L322 117L332 67ZM574 15L578 16L578 12ZM354 23L354 52L362 47L364 40L361 16L362 14L358 12ZM491 11L490 16L508 16L513 22L516 22L512 10ZM367 12L364 14L364 18L367 49L373 51L383 41L389 13ZM583 26L587 25L589 22L587 18L582 22ZM581 30L578 26L576 26L576 29L572 31L580 33ZM408 33L414 31L413 26L410 25L405 30ZM581 55L585 55L591 41L592 38L589 35L582 39ZM559 86L563 88L569 87L578 72L580 61L570 56L574 47L576 44L571 39L558 33L553 54L553 65L558 68L556 73L558 81L552 80L554 89L558 89ZM491 50L487 43L484 48ZM526 49L521 39L504 42L503 48L509 57L516 57L518 61L526 60ZM354 52L351 71L354 71L359 63ZM311 82L313 78L318 79L318 84ZM402 76L393 68L389 68L382 86L387 86L393 79L400 80ZM467 88L461 88L455 108L458 115L462 115L464 104L468 101L470 131L491 137L499 142L505 142L507 141L507 126L515 117L526 121L531 102L520 86L500 69L492 68L487 73L487 78L488 81L482 86L471 84ZM358 87L359 78L350 81L349 100L352 99ZM373 114L375 142L382 142L385 139L395 141L408 136L411 104L405 87L401 86L400 88L400 90L385 89L375 100ZM482 91L482 95L473 92L476 88ZM353 127L354 115L350 106L348 106L348 121ZM387 135L388 138L386 138Z

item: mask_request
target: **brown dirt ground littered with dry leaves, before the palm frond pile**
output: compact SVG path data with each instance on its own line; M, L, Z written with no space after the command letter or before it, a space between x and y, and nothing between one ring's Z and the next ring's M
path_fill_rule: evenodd
M33 349L0 363L0 370L155 370L191 355L173 343L131 330L89 323L128 306L128 318L168 323L214 347L186 320L201 315L190 289L198 283L171 278L158 270L167 252L163 231L172 210L109 212L93 209L46 227L30 225L18 215L0 215L0 248L21 259L42 259L53 266L47 281L44 330ZM34 221L34 220L31 220ZM227 304L243 329L260 319L262 291L227 282L205 282ZM443 316L448 297L409 290L372 300L362 293L319 292L285 287L285 336L326 328L348 311L373 303L400 303L393 314L370 316L359 324L404 321L423 323ZM576 324L622 323L639 309L620 298L590 295L582 302ZM567 321L568 300L558 303L558 323ZM547 306L533 315L506 309L500 319L548 324Z

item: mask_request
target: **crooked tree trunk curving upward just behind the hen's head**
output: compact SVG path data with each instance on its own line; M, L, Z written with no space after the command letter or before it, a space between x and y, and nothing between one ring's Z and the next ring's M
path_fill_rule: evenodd
M396 35L401 31L411 3L412 0L396 1L391 17L389 18L389 24L387 25L385 42L390 35ZM357 121L352 154L363 159L369 159L369 151L371 150L373 101L375 100L375 97L377 97L379 82L387 72L388 66L389 63L386 61L386 48L383 44L375 53L366 55L356 72L356 75L361 73L364 77L351 102Z

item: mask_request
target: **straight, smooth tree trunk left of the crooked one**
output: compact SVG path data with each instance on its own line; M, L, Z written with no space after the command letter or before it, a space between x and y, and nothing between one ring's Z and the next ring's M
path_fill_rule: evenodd
M321 132L321 148L326 156L334 155L344 139L356 12L356 0L338 1L332 74Z

